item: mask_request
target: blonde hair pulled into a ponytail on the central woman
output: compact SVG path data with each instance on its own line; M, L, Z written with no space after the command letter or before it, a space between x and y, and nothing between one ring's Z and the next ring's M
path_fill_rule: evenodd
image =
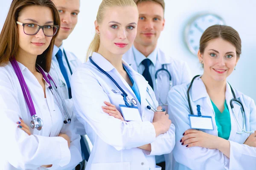
M134 3L134 0L102 0L102 3L99 5L98 13L97 13L97 23L102 23L104 12L109 7L114 6L120 6L120 7L126 7L126 6L134 6L137 8L136 3ZM100 38L97 32L95 33L92 42L89 45L88 51L87 51L87 59L90 55L93 54L93 52L98 52L100 45Z

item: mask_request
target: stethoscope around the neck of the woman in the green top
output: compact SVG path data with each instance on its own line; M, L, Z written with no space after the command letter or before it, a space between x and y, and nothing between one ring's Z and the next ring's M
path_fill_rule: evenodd
M196 76L192 79L192 81L191 81L191 83L190 83L190 85L189 85L189 88L188 88L188 90L187 90L187 96L188 96L188 102L189 102L189 110L190 110L191 115L194 115L194 112L193 112L193 110L192 110L192 106L191 106L191 102L190 102L189 90L191 89L191 86L192 86L192 84L193 84L195 78L197 78L198 76L200 76L200 75L196 75ZM229 84L229 85L230 85L230 84ZM233 113L233 115L234 115L234 117L235 117L235 119L236 119L236 123L238 124L238 126L239 126L239 128L240 128L240 130L241 130L241 132L236 132L236 133L238 133L238 134L242 134L242 133L253 133L253 132L247 132L247 131L246 131L246 128L245 128L244 106L243 106L243 104L241 103L241 101L239 101L239 100L236 98L236 94L235 94L235 92L234 92L234 90L233 90L233 88L232 88L231 85L230 85L230 89L231 89L231 92L232 92L232 95L233 95L233 99L230 100L230 107L231 107L232 113ZM237 104L239 104L240 107L241 107L241 113L242 113L242 116L243 116L243 127L241 127L241 125L239 124L239 122L238 122L238 120L237 120L237 117L236 117L236 115L235 115L235 112L234 112L234 104L233 104L234 102L236 102ZM198 112L200 112L200 105L198 105L198 106L199 106L199 107L197 107L197 108L199 109Z

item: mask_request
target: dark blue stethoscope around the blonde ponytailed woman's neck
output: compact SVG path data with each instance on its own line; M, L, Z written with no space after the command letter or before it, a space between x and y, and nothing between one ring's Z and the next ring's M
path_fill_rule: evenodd
M133 107L134 105L137 105L137 101L136 101L134 98L130 99L130 98L128 97L128 94L122 89L122 87L119 86L119 84L111 77L111 75L109 75L107 72L105 72L105 70L103 70L102 68L100 68L100 66L98 66L98 65L93 61L93 59L92 59L91 56L89 57L89 60L90 60L90 62L91 62L94 66L97 67L97 69L99 69L99 71L101 71L103 74L105 74L106 76L108 76L108 78L110 78L111 81L113 81L113 83L118 87L118 89L122 92L121 95L122 95L122 97L124 98L125 105L126 105L127 107ZM148 92L148 89L147 89L147 92ZM148 93L149 93L149 92L148 92ZM150 97L151 97L151 95L150 95ZM152 99L152 97L151 97L151 99ZM147 99L146 99L146 101L148 102ZM152 99L152 101L154 102L153 99ZM151 109L153 112L165 112L165 109L157 110L157 109L154 108L149 102L148 102L148 104L149 104L150 106L147 106L147 109ZM154 106L155 106L155 104L154 104Z

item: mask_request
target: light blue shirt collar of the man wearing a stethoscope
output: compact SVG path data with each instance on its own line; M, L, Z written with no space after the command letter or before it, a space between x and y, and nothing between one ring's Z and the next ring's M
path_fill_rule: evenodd
M150 55L148 55L148 57L145 57L145 55L143 55L139 50L137 50L134 45L132 46L132 50L133 50L133 53L134 53L134 58L135 58L135 61L138 65L141 64L141 62L148 58L152 63L153 65L155 66L156 63L157 63L157 48L154 49L153 52L150 53Z

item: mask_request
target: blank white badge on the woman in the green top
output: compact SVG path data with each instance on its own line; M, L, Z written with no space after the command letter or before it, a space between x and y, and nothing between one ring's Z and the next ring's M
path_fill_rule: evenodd
M212 116L189 115L191 129L213 130Z

